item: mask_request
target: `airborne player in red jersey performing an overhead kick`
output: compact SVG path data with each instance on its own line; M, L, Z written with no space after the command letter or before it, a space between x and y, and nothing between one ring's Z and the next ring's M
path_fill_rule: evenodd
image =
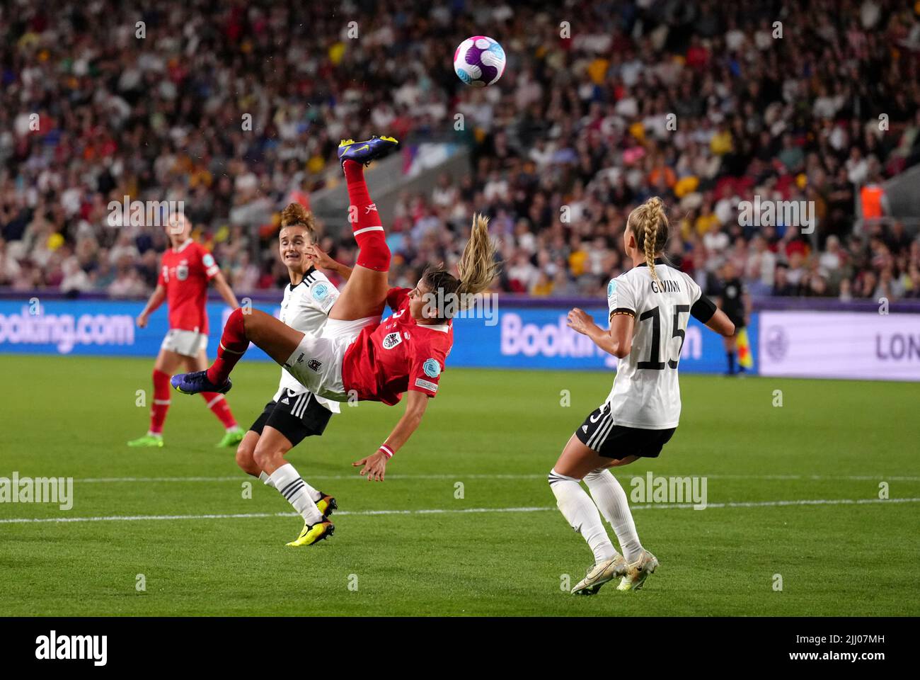
M225 393L232 385L230 371L252 342L310 392L327 399L344 402L356 398L392 405L407 393L406 410L389 437L374 453L352 463L362 466L361 474L374 480L384 479L387 460L419 427L429 399L438 392L444 362L454 342L451 318L475 301L472 296L488 289L498 273L489 220L476 216L457 264L458 277L445 269L430 268L414 288L389 286L390 251L377 206L364 182L362 164L396 145L390 137L373 137L366 142L345 140L339 145L359 252L322 333L304 334L269 314L237 310L224 326L211 368L176 375L171 381L181 393ZM314 260L320 266L324 255L315 249ZM386 304L394 313L381 323ZM277 480L276 484L296 490L305 482L297 476ZM311 545L332 528L329 522L305 524L289 545Z

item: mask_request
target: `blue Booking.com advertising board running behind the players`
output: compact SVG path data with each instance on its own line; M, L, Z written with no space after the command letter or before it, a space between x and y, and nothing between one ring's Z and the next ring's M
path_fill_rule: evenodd
M143 306L142 302L119 300L49 300L40 305L28 299L0 300L0 353L155 357L169 330L167 313L165 309L155 311L146 328L137 328L134 317ZM268 313L279 309L270 304L257 307ZM602 328L607 327L605 307L586 311ZM208 304L210 357L229 312L223 303ZM614 370L614 357L569 328L568 312L563 306L534 309L505 303L497 322L458 317L447 368ZM753 314L749 329L752 338L757 337L756 317ZM756 347L753 354L757 357ZM268 358L250 349L247 360ZM690 319L680 365L687 371L723 371L721 338L702 333L702 325Z

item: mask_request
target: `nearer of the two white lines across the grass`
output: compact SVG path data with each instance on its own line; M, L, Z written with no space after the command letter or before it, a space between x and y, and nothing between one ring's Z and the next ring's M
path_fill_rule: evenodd
M759 500L730 501L726 503L707 503L707 508L776 508L796 505L870 505L876 503L918 503L920 498L817 498L813 500ZM693 508L691 503L654 503L631 506L632 510L687 510ZM463 510L341 510L335 516L373 516L373 515L440 515L469 514L474 512L545 512L556 508L465 508ZM238 520L259 519L266 517L299 517L296 512L240 512L234 514L206 515L110 515L108 517L17 517L0 520L0 524L34 524L63 522L155 522L170 520Z

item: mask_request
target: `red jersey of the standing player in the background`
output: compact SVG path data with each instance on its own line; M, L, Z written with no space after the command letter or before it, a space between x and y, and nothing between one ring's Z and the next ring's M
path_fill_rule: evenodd
M167 248L160 264L157 283L167 289L169 328L207 334L208 282L220 268L208 249L189 239L178 247Z

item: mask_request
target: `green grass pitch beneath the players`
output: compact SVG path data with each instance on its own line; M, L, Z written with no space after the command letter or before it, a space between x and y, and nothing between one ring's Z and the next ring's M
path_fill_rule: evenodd
M213 448L221 428L200 397L173 394L165 448L124 446L146 430L135 403L137 390L152 397L151 368L0 356L0 476L75 478L72 510L0 504L7 616L920 614L915 384L684 375L681 427L661 458L616 474L627 493L647 471L705 475L714 507L638 508L660 569L642 592L575 598L566 575L581 579L591 554L546 474L612 374L448 370L384 483L351 462L376 449L401 406L344 407L289 456L339 498L336 534L293 549L284 543L300 519L275 516L290 506L258 482L244 498L249 478L234 451ZM243 427L277 378L267 363L236 369L229 401ZM463 511L475 509L493 511ZM9 522L111 517L147 519Z

